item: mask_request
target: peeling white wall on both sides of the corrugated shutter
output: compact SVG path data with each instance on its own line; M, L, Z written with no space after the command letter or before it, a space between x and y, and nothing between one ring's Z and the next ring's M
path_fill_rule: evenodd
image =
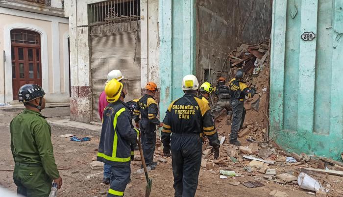
M65 1L65 15L70 20L71 119L74 121L90 122L93 120L89 28L77 26L88 25L88 4L101 1ZM159 81L156 74L158 71L158 55L158 0L141 0L142 88L148 80L156 83Z

